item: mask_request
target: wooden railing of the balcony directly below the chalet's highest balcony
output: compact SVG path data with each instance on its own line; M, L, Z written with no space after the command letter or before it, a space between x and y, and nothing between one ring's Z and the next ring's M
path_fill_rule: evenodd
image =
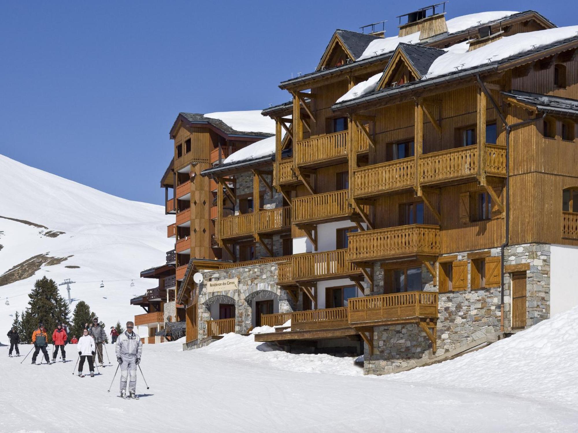
M299 197L292 201L293 223L322 221L324 219L349 216L352 210L347 203L347 189L312 196Z

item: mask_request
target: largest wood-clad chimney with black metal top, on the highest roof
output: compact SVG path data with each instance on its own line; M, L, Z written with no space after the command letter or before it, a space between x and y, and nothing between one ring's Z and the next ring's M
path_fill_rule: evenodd
M424 40L447 33L446 3L436 3L397 16L399 18L399 36L420 32L420 40ZM405 17L407 17L407 22L402 24L402 18Z

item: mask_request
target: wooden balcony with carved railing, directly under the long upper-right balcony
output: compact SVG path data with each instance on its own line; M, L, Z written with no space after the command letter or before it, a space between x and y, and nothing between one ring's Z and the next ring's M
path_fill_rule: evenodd
M413 224L349 234L351 262L439 253L439 226Z

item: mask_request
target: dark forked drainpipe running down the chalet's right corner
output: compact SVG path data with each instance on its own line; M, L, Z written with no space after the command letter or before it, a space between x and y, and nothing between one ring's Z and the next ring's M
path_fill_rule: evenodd
M479 74L476 74L476 80L477 83L480 85L481 90L484 92L484 94L486 95L486 97L490 100L492 106L494 106L494 109L496 110L496 113L498 113L499 118L502 120L503 124L506 125L506 233L505 233L505 240L501 246L501 253L502 253L502 260L500 262L501 265L501 275L500 275L500 281L501 281L501 299L500 299L500 331L503 333L504 331L504 251L506 249L506 247L510 244L510 132L512 132L512 129L514 128L518 128L519 126L524 126L524 125L528 125L531 124L533 122L537 122L540 120L543 120L544 117L546 117L546 113L544 113L542 115L542 117L535 117L533 119L528 119L528 120L524 120L521 122L517 122L515 124L508 124L508 122L506 121L506 118L504 117L504 115L502 114L502 111L500 111L498 104L495 102L494 98L492 97L492 95L490 94L490 92L488 92L488 89L486 88L486 85L484 85L483 81L480 80L480 76Z

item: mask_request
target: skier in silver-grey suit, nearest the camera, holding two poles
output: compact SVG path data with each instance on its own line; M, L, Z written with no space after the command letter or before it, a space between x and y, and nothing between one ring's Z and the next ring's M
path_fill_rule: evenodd
M135 324L127 322L127 330L118 336L116 341L116 359L120 364L120 396L127 398L127 379L130 375L128 391L130 398L136 397L136 366L140 363L143 351L140 337L132 331Z

